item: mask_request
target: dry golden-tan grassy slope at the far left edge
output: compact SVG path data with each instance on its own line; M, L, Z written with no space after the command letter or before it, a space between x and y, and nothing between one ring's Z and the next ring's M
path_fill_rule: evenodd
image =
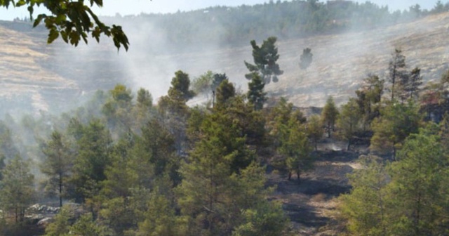
M76 89L76 82L60 77L52 70L41 66L41 61L51 55L45 44L27 34L0 26L0 98L9 107L30 102L34 112L48 110L48 100L43 95L48 91ZM25 99L28 98L28 99ZM11 104L15 103L15 104ZM6 109L2 103L0 110ZM8 107L8 108L9 108Z

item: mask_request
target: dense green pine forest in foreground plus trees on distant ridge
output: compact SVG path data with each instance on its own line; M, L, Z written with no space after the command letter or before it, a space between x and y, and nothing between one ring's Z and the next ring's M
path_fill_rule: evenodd
M415 6L397 13L396 20L416 8L425 15L449 7L438 3L431 11ZM329 3L317 1L205 11L253 11L258 19L263 8L289 15L294 4L316 8L316 21L307 27L292 20L303 24L301 34L327 32L330 25L321 23L330 19L342 24L335 30L354 27L340 21L345 11L332 15ZM395 14L369 3L340 4L346 13L373 6ZM235 30L253 27L246 22ZM347 154L358 155L354 147L361 144L369 150L348 176L352 188L337 197L335 234L448 235L449 71L424 83L420 67L408 65L396 48L387 77L369 74L347 103L337 106L329 96L321 112L306 116L264 91L283 73L277 39L250 42L253 61L241 62L248 68L246 91L226 74L191 79L178 70L158 100L145 88L116 84L62 114L6 114L0 120L0 235L297 235L284 203L272 197L276 185L267 183L267 174L300 186L323 154L319 144L337 140ZM306 70L309 48L301 58ZM188 105L197 96L206 102ZM36 220L30 213L36 203L56 206L55 215Z

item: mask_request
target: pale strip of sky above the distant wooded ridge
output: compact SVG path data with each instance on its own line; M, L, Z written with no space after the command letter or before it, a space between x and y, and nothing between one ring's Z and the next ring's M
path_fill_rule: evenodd
M98 15L138 15L140 13L175 13L176 11L192 11L209 6L240 6L242 4L263 4L269 0L106 0L103 8L95 9ZM284 0L282 0L284 1ZM320 0L324 1L324 0ZM365 2L366 0L355 0ZM433 8L437 0L371 0L380 6L388 6L390 10L403 10L409 6L420 4L421 8ZM448 0L443 0L443 3ZM39 12L38 12L39 13ZM28 16L26 7L0 8L0 20L13 20Z

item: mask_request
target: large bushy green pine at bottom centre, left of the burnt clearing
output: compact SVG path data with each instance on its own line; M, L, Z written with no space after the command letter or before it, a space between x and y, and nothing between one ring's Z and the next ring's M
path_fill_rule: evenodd
M189 216L190 235L223 235L230 230L227 223L233 215L225 214L232 205L230 176L253 159L233 123L225 114L208 115L201 140L181 166L178 204Z

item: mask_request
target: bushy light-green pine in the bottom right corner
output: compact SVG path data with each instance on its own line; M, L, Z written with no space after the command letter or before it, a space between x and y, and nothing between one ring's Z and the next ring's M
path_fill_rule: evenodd
M398 162L391 164L393 217L401 218L392 223L396 235L447 233L449 162L439 138L428 133L431 129L410 135L398 152Z

